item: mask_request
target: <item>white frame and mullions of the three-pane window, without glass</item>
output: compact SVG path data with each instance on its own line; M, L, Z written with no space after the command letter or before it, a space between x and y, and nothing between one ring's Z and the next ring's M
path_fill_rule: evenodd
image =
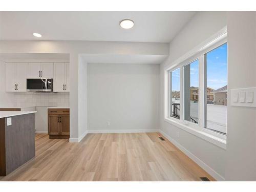
M164 100L164 105L165 105L165 112L164 112L164 121L172 123L177 125L178 127L180 127L181 129L184 129L185 131L191 132L195 135L198 135L200 137L203 138L210 138L217 140L218 142L220 142L223 144L224 141L226 142L226 135L224 135L223 133L219 133L216 132L214 130L211 129L207 129L204 127L205 125L205 119L206 119L206 115L204 114L205 110L206 110L206 106L205 104L207 102L205 102L205 100L207 100L207 94L205 91L205 84L206 84L206 67L205 67L205 56L206 53L210 52L211 50L214 50L218 47L220 47L221 45L227 43L227 33L224 33L222 35L222 37L220 39L214 39L211 42L209 42L207 45L203 46L203 48L201 48L200 50L196 51L196 53L194 54L190 54L187 58L183 59L180 62L177 62L175 65L172 65L171 67L167 67L165 68L165 75L168 76L168 78L165 78L165 86L164 88L168 89L168 91L166 92L167 94L165 94L165 97L167 96L168 99L165 98ZM188 65L189 63L195 61L195 60L199 60L199 122L198 124L184 120L184 96L183 96L183 92L184 92L184 66ZM172 81L170 79L170 73L176 69L180 68L180 119L177 119L175 117L170 116L170 98L171 98L171 91L172 91ZM166 86L167 84L167 86ZM166 109L166 102L168 105L168 109ZM168 110L168 111L167 111ZM208 140L208 139L206 139ZM215 141L212 143L216 143ZM220 144L222 147L223 145ZM219 146L220 146L219 145ZM224 148L224 147L223 147Z

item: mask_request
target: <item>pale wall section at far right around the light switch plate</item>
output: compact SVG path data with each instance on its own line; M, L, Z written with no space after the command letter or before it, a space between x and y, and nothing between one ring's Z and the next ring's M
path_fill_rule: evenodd
M256 13L228 12L227 18L230 93L256 87ZM227 114L226 180L256 181L256 108L228 102Z

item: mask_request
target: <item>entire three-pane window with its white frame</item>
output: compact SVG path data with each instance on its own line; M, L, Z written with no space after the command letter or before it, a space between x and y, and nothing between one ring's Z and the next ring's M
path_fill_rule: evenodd
M165 69L164 120L218 143L215 138L225 140L227 132L226 33L193 51Z

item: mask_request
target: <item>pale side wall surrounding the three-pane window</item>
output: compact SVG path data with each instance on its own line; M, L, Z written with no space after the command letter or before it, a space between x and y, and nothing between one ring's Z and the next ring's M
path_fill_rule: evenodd
M188 54L227 25L226 12L199 12L170 43L169 57L160 65L160 129L186 154L197 160L218 180L225 178L226 151L193 134L179 129L164 119L164 68ZM179 137L177 132L179 132Z

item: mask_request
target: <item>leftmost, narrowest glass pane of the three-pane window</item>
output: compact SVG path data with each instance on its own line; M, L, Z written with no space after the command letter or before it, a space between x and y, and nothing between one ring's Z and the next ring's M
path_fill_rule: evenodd
M170 116L180 118L180 68L171 71Z

